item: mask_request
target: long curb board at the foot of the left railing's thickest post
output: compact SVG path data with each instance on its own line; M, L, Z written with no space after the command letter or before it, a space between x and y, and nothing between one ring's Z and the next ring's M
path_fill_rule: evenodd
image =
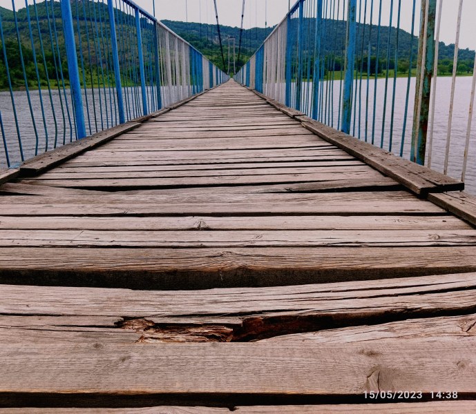
M25 161L19 167L20 176L31 177L37 175L39 172L53 168L67 159L73 158L86 150L91 150L92 148L104 144L105 142L124 134L124 132L131 131L140 125L142 125L140 122L126 122L125 124L109 128L108 130L97 132L96 134L91 135L91 137L78 139L77 141L56 148L55 150L37 155L37 157L28 159L28 161Z

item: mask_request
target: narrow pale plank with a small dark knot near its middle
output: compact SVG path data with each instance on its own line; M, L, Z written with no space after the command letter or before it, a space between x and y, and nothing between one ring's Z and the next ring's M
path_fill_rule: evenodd
M35 186L37 188L38 186ZM42 186L40 186L42 188ZM441 216L248 216L248 217L10 217L0 228L11 230L469 230L451 215Z

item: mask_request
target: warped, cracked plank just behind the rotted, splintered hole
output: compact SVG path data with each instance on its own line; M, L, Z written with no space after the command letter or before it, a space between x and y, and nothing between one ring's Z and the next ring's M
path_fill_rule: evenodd
M476 273L196 291L0 285L0 292L0 311L6 318L17 317L15 322L10 322L17 327L26 316L39 317L37 324L50 325L54 323L48 318L86 318L85 322L76 322L77 326L91 326L87 318L100 317L101 326L111 327L118 317L156 320L202 317L219 321L292 313L305 316L313 312L321 314L328 329L349 326L352 314L368 320L372 315L393 313L395 320L401 320L418 315L475 311ZM341 322L337 315L348 320Z

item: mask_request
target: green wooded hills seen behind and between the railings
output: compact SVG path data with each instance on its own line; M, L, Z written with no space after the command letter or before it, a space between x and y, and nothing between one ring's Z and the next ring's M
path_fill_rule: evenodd
M46 75L50 79L50 85L53 88L57 87L57 78L61 83L61 75L57 76L59 67L61 66L65 85L68 86L68 65L66 62L66 48L64 45L64 35L62 33L62 21L59 1L48 1L47 3L37 3L37 6L29 6L28 11L30 13L32 23L32 37L33 44L37 58L37 66L35 67L34 55L32 50L32 44L30 40L30 30L28 27L26 8L22 8L17 11L17 21L19 26L19 39L21 43L21 52L23 54L23 64L25 67L25 74L23 75L23 68L21 64L21 56L19 52L19 43L17 39L17 30L15 28L14 14L11 10L0 7L0 16L2 19L3 34L5 37L5 50L8 57L8 67L10 69L10 77L12 81L12 87L15 89L25 88L25 80L28 79L29 88L37 88L38 81L40 79L40 87L46 88L47 80ZM93 1L83 0L73 3L73 19L75 24L75 31L77 32L77 25L81 28L81 37L77 37L77 43L79 40L82 42L82 50L84 52L84 78L81 75L81 82L86 83L86 86L99 86L99 85L111 85L114 84L113 76L107 77L107 69L111 73L111 61L107 63L104 61L104 55L110 56L109 50L111 50L111 40L108 33L108 12L106 5L103 3L97 3ZM55 18L53 19L53 10ZM100 27L95 26L93 21L96 15L97 21L103 22L104 38L101 37L99 43ZM117 12L116 27L118 32L122 34L131 31L131 35L134 34L135 28L129 24L125 25L121 23L125 21L125 14ZM296 20L294 19L289 27L292 33L292 39L295 40L293 53L296 55L297 51L297 37L296 37ZM220 44L218 41L218 31L216 25L204 24L204 23L185 23L183 21L163 21L171 30L180 35L180 37L189 41L193 46L200 50L205 57L210 59L218 68L227 71L227 68L223 67L222 55L220 51ZM307 75L307 65L312 68L314 66L314 24L311 24L310 19L305 19L305 26L310 28L309 31L305 31L303 44L306 45L303 50L303 61L306 63L305 69L303 69L303 76ZM326 20L323 26L325 35L323 36L322 50L325 56L323 77L327 79L332 78L330 75L333 73L333 79L340 79L341 69L343 68L343 62L345 59L345 45L343 44L343 37L345 33L345 22L342 21L330 21ZM143 26L146 27L148 23L144 21ZM50 28L56 26L57 36L55 36L55 30L51 31ZM87 30L86 30L87 28ZM265 37L272 32L273 28L251 28L243 30L242 32L242 45L240 50L240 59L238 61L238 46L240 39L240 28L220 26L222 34L222 45L225 57L225 66L228 63L228 39L235 39L236 43L236 70L245 64L249 58L254 54L258 47L263 43ZM41 44L39 32L41 32L41 39L43 41L44 58L41 53ZM394 48L396 47L396 29L390 30L390 61L388 62L388 68L390 70L389 75L392 76L395 69L394 62ZM385 69L387 67L387 50L386 45L388 41L389 30L388 27L382 27L380 31L380 46L378 57L379 72L377 77L385 75ZM144 36L143 36L144 37ZM105 40L103 40L105 39ZM363 68L363 72L367 72L367 53L368 49L365 46L365 50L361 50L361 45L368 45L370 43L370 54L372 56L370 60L370 74L372 77L375 75L375 69L377 66L377 29L373 28L370 35L370 26L357 25L357 53L356 53L356 69ZM417 63L417 37L413 37L403 30L399 33L399 45L397 62L397 76L403 77L408 75L410 67L410 49L413 49L412 59L412 72L415 72ZM359 48L360 46L360 48ZM125 49L124 45L119 45L120 59L129 59L130 52ZM79 48L78 48L79 49ZM439 44L439 75L450 75L453 72L453 55L455 52L454 45ZM99 59L99 53L102 53L102 63ZM150 53L150 51L144 50L144 54ZM457 72L458 75L470 75L473 72L473 63L475 59L475 52L473 50L459 50L459 61ZM231 65L233 68L233 49L231 48ZM130 60L128 61L130 62ZM122 63L122 61L121 61ZM81 62L79 62L81 65ZM138 71L135 67L136 63L128 63L129 66L133 65L131 70ZM37 75L38 70L38 75ZM80 71L81 74L83 71ZM103 78L103 72L106 74ZM124 75L124 74L123 74ZM293 73L293 77L296 77L296 73ZM131 85L131 78L128 75L124 75L122 79L124 86ZM6 61L3 56L3 45L0 43L0 90L8 89L8 78L6 76Z

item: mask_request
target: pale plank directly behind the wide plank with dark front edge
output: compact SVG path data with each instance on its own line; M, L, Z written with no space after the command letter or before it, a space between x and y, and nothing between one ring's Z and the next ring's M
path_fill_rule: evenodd
M0 247L422 247L476 246L476 230L3 230Z

